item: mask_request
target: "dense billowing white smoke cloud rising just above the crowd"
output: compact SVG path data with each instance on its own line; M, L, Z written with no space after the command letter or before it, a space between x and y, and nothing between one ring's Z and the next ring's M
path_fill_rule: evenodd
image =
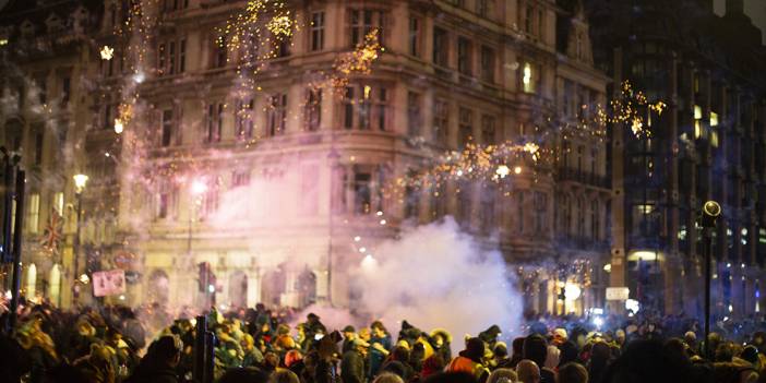
M517 333L522 299L502 255L481 249L452 217L383 242L374 258L362 262L357 287L363 307L384 323L407 320L456 338L492 324L505 336Z

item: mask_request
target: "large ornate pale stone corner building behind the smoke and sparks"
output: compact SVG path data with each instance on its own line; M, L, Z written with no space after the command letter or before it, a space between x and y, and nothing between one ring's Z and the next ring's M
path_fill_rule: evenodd
M451 215L518 267L528 311L603 306L607 140L559 133L559 124L607 104L608 79L594 69L588 23L576 4L288 1L301 27L289 41L266 43L274 55L255 88L242 84L247 49L220 44L220 27L244 1L149 1L153 23L122 34L115 31L136 17L128 2L70 1L68 10L84 5L87 38L68 36L76 49L46 49L39 58L26 53L33 48L23 34L55 41L61 37L43 34L40 20L73 16L38 3L34 12L21 1L0 11L7 36L0 50L5 64L21 69L19 79L32 79L37 67L51 79L63 75L60 68L70 73L70 129L52 145L63 154L45 151L46 171L58 171L60 184L40 189L40 212L58 192L74 203L71 173L89 177L81 256L89 272L123 268L129 277L127 292L109 299L205 303L211 292L198 278L206 263L218 304L355 306L358 241L374 249ZM340 92L311 86L374 28L385 51L370 74L352 75ZM103 46L115 49L111 60L99 57ZM28 80L3 84L5 95L31 88ZM64 92L52 80L48 86ZM132 95L133 118L117 133L120 106ZM22 144L34 147L33 124L13 128L11 116L0 116L4 142L23 132ZM519 159L510 190L489 180L406 188L400 195L386 190L445 149L543 136L552 137L543 144L555 148L554 160ZM70 286L72 273L64 275ZM576 296L574 288L564 294L567 286Z

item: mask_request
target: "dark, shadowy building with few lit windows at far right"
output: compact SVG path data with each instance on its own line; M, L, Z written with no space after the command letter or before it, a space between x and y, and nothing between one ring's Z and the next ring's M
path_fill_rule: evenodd
M650 137L613 130L625 133L611 140L612 286L629 286L647 308L699 314L704 264L697 217L713 199L723 207L713 249L714 312L759 311L766 280L761 31L744 14L742 0L727 1L723 16L714 14L710 0L583 4L595 61L613 79L612 92L629 80L649 100L668 105L659 119L647 121Z

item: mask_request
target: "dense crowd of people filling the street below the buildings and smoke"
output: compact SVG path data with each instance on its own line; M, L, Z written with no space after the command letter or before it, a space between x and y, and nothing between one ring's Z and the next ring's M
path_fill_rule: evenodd
M192 382L196 321L171 321L157 307L142 310L139 320L124 307L74 312L24 306L13 331L0 334L0 381ZM680 318L595 323L538 316L525 336L506 343L498 325L456 338L407 321L397 331L381 321L334 330L313 313L289 325L291 315L261 304L207 313L216 338L215 381L766 382L766 333L754 331L741 342L729 336L733 333L714 332L704 339L697 323ZM453 348L459 352L453 355Z

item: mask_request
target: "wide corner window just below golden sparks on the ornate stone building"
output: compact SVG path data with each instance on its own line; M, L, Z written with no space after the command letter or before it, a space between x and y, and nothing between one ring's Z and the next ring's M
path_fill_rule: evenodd
M354 85L346 87L344 128L386 130L388 91L384 86Z

